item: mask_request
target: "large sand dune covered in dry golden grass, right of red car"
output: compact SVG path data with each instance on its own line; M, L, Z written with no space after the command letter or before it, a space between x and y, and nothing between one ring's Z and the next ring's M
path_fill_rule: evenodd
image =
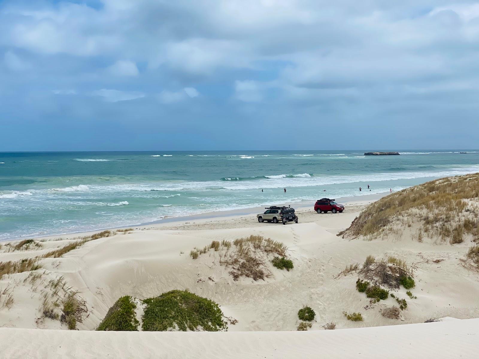
M479 240L479 173L436 179L381 198L370 204L351 226L340 232L344 238L377 238L388 235L394 223L399 231L420 222L417 239L430 238L461 243L465 235ZM426 214L424 214L426 213Z

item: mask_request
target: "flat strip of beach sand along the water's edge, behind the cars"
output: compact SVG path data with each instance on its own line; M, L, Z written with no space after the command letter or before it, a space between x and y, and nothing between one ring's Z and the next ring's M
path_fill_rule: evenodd
M358 195L358 196L338 197L335 200L338 202L342 202L342 204L346 204L346 205L369 204L371 202L375 202L379 200L380 198L384 196L387 196L388 194L389 192L381 192L381 193L365 194L365 195ZM314 201L316 200L312 200L311 202L302 201L302 202L293 202L293 203L280 203L279 205L291 205L295 209L304 210L308 207L312 208L314 205ZM353 203L353 202L359 202L359 203ZM67 239L67 238L75 238L80 236L91 235L98 231L125 229L130 227L134 227L134 229L161 229L162 227L166 227L166 226L180 226L183 224L191 224L190 222L185 223L184 221L195 221L193 222L194 224L206 223L206 222L219 222L221 220L229 221L234 219L240 219L240 218L243 218L244 216L260 213L263 210L264 210L264 206L258 206L258 207L248 207L248 208L243 208L238 210L205 212L205 213L193 214L188 216L168 217L168 218L160 219L158 221L143 222L139 224L125 224L125 225L115 226L115 227L96 228L96 229L91 229L88 231L49 234L44 236L21 236L17 238L11 238L11 239L0 241L0 243L3 243L3 242L7 243L10 241L30 239L30 238L50 239L50 238L57 238L60 236L66 237L65 239ZM143 228L137 228L137 227L143 227Z

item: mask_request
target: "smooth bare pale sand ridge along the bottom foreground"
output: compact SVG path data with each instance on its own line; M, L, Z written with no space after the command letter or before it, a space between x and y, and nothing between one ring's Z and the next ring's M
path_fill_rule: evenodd
M479 319L311 332L0 328L3 358L477 358ZM4 345L3 343L10 343Z

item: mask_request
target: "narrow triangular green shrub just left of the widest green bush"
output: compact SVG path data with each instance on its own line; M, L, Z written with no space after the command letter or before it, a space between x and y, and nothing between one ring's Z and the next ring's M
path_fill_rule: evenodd
M118 300L108 310L102 323L96 330L114 330L114 331L136 331L139 322L137 320L135 309L137 304L129 295L118 298Z

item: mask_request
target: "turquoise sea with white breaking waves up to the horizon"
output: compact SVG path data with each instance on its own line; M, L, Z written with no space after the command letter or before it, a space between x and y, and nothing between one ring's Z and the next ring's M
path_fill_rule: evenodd
M479 172L476 150L381 157L364 152L0 153L0 240L312 202L325 193L336 198L398 191ZM371 191L358 191L367 184Z

